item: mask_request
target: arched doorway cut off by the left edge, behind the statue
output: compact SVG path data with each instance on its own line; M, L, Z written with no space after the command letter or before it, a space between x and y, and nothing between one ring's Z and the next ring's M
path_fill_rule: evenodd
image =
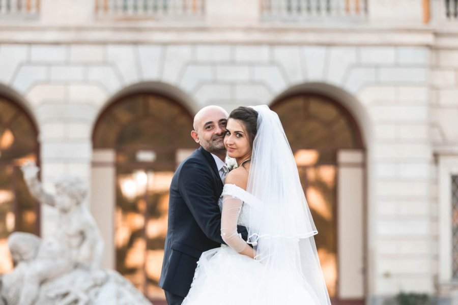
M14 231L40 234L40 207L20 166L39 161L38 130L17 103L0 97L0 273L13 268L7 238Z

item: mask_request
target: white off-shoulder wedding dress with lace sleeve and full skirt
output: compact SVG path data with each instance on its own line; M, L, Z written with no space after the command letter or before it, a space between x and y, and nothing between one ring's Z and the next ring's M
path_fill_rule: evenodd
M238 253L249 246L237 233L237 225L248 228L250 211L262 202L242 188L226 184L219 204L221 235L230 246L221 245L202 254L183 305L320 304L299 273L285 271L279 265L267 267L264 262Z

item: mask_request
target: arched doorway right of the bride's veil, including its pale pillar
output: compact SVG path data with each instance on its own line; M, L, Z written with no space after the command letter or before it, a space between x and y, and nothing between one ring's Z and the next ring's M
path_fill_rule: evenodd
M364 143L336 101L296 93L275 101L319 234L316 244L333 304L364 301ZM351 181L349 183L349 181Z

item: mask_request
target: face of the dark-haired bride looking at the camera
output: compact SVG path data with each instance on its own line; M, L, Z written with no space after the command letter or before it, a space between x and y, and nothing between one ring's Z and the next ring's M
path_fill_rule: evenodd
M249 158L251 146L248 137L242 121L233 118L228 119L224 137L227 155L241 161Z

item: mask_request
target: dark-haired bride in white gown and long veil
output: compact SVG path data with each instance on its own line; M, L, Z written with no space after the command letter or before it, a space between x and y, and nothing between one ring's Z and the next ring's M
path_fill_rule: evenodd
M238 164L219 203L227 246L202 254L183 305L330 304L318 232L277 114L266 105L235 109L224 146Z

